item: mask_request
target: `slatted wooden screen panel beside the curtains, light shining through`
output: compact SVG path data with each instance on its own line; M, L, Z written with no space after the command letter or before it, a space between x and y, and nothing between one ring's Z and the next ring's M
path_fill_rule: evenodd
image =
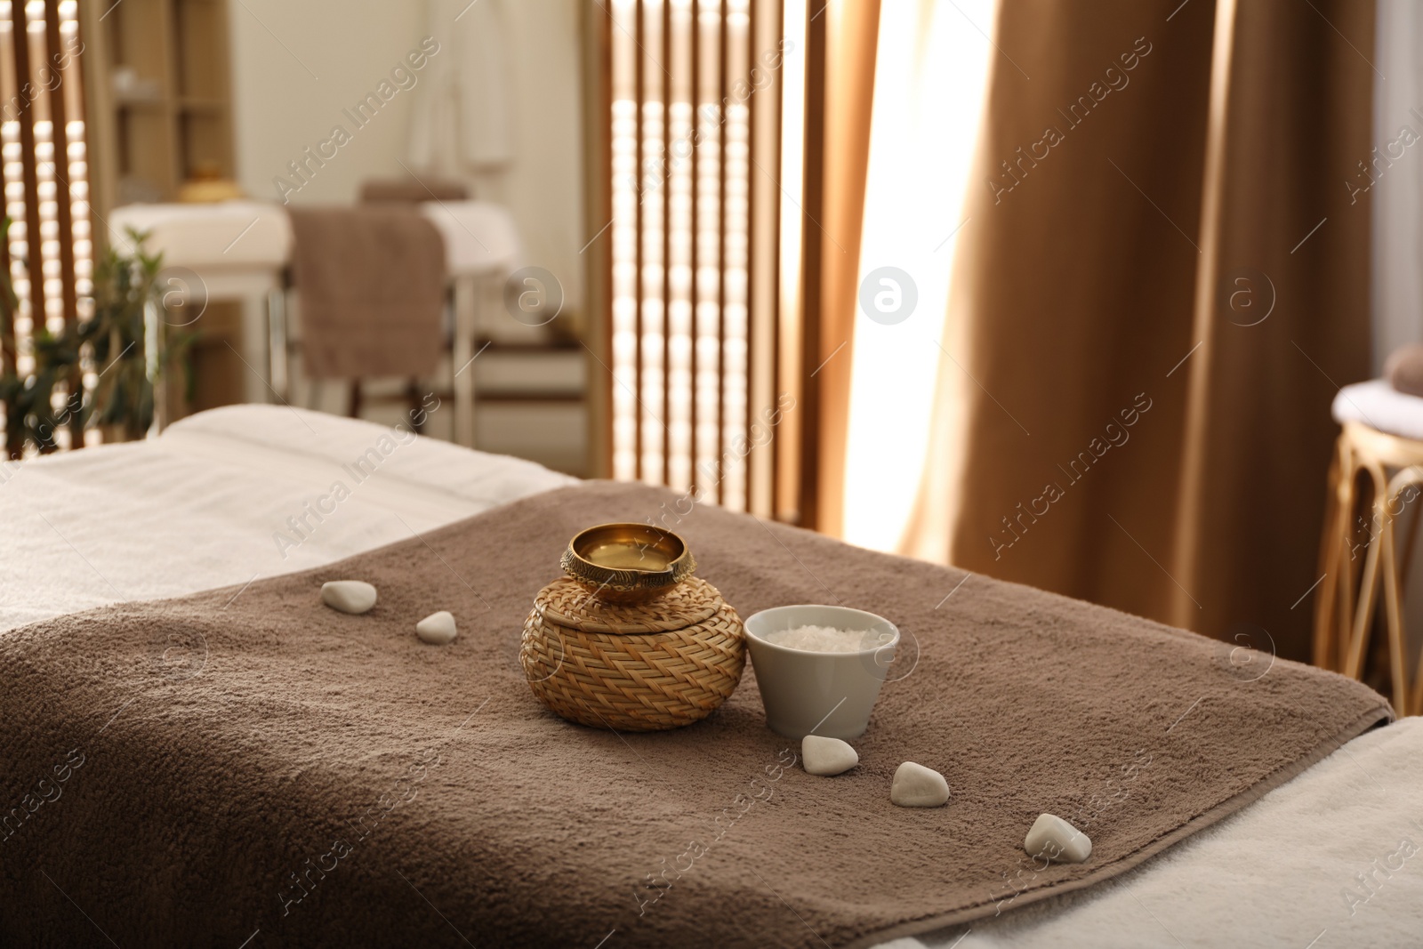
M593 9L612 98L612 474L761 515L784 507L771 442L798 397L777 357L781 6Z

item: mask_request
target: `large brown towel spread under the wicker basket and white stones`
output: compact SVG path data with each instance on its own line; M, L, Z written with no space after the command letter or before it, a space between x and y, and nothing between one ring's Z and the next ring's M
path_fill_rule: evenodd
M805 774L750 666L677 731L554 717L517 662L534 595L578 529L676 505L591 482L0 636L0 943L107 945L68 895L120 946L869 946L1110 879L1392 717L1239 643L712 505L676 528L743 616L838 602L904 632L859 765ZM322 606L351 578L370 613ZM416 639L435 609L450 646ZM905 760L946 807L889 802ZM1091 859L1032 861L1042 811Z

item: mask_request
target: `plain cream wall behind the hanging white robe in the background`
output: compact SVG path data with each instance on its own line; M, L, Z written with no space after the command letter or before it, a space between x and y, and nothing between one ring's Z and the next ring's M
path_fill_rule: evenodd
M327 139L343 115L430 36L414 0L233 0L232 84L238 181L279 199L273 178ZM578 0L507 0L514 162L498 188L522 233L527 263L564 283L581 310L583 260L582 92ZM440 40L438 31L434 34ZM349 203L366 178L406 172L414 90L400 91L350 144L289 195L292 203ZM408 164L408 161L407 161ZM295 184L295 179L292 179Z

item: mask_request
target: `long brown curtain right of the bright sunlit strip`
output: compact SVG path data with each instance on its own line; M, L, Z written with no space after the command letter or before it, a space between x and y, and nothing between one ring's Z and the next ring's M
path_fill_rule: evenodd
M1372 37L1355 0L1003 0L908 552L1308 659Z

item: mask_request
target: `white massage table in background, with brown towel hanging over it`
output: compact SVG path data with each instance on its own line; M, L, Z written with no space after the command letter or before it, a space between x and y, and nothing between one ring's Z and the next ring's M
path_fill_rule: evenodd
M475 354L481 287L502 280L519 265L518 229L505 208L485 201L427 201L416 206L444 240L454 314L451 360L458 369ZM292 222L282 205L248 199L124 205L110 212L107 223L111 245L124 253L134 249L129 230L148 235L145 250L162 253L161 292L166 302L189 307L179 310L185 319L196 319L186 314L194 309L201 313L209 302L240 303L242 359L253 370L245 376L245 401L268 401L270 394L292 401L287 353L293 320L283 277L292 259ZM266 302L265 319L260 300ZM453 388L454 441L472 447L472 373L455 373ZM161 418L162 424L166 420Z

